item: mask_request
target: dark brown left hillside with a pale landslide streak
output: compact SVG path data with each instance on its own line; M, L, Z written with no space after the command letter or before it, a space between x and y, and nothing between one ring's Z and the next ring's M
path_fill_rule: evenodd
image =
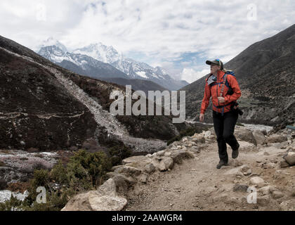
M123 86L77 75L4 37L0 55L2 149L81 148L92 140L148 152L185 128L177 129L171 117L110 115L110 93Z

